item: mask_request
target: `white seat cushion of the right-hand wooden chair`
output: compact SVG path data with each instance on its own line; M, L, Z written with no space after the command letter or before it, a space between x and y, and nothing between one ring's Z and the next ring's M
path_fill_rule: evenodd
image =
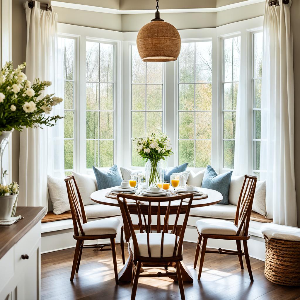
M233 222L219 219L198 220L196 228L199 233L215 235L236 235L238 231Z

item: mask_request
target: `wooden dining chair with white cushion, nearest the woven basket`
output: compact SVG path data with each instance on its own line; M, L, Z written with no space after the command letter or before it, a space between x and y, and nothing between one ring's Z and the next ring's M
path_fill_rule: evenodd
M238 199L234 223L232 223L231 221L220 219L198 220L196 222L196 229L199 233L199 237L196 246L194 268L196 268L199 251L201 248L198 280L200 280L201 277L205 253L219 253L237 255L241 269L244 268L242 257L245 256L250 280L253 281L247 240L250 238L250 235L248 235L248 228L256 187L256 180L256 176L245 175L244 183ZM219 248L218 251L206 250L208 238L235 240L237 251L221 248ZM241 249L241 241L243 241L244 251Z

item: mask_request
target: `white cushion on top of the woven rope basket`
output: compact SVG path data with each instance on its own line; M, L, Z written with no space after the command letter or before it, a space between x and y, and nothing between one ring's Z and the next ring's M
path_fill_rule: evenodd
M265 224L261 226L262 234L268 239L276 238L286 241L300 242L300 228L278 224Z

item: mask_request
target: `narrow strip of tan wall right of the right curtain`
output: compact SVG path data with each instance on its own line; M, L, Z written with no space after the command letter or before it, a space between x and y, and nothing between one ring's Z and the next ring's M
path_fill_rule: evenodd
M295 115L295 184L297 196L297 216L298 227L300 227L300 1L293 1L291 6L291 27L293 32L293 51L294 51L294 115Z

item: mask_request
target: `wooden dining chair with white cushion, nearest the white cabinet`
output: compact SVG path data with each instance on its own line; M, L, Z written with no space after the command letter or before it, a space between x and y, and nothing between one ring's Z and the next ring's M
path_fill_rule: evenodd
M68 176L64 179L64 181L66 182L67 185L70 210L71 210L73 226L74 226L73 237L76 240L76 247L75 247L70 280L73 281L75 271L76 273L78 273L82 249L100 248L99 250L101 251L106 251L106 250L112 251L116 284L119 284L115 238L118 229L120 228L121 225L120 220L118 220L117 218L104 218L101 220L87 222L82 198L80 196L79 189L74 177ZM123 233L121 232L121 234ZM83 244L84 241L101 240L105 238L110 239L111 248L104 248L103 245L98 245L98 244L88 244L86 246ZM121 244L121 247L124 247L124 245ZM122 251L122 253L124 253L124 251Z

